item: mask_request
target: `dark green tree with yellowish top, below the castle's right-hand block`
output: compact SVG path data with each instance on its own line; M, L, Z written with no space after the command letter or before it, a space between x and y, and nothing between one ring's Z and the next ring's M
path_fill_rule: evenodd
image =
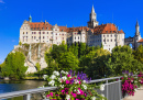
M90 52L88 55L88 66L86 73L89 77L101 78L109 76L110 68L106 66L108 58L110 57L110 52L103 48ZM87 59L86 59L87 60Z

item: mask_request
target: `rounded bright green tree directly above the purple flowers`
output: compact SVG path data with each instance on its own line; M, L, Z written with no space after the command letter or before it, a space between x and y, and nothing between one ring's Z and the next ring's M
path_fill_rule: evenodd
M72 52L63 53L58 60L61 70L77 70L78 63L78 58Z

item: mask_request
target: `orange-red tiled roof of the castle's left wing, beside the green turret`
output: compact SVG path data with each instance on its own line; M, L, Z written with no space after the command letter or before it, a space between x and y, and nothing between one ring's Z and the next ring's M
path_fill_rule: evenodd
M32 30L52 30L52 25L48 22L31 22Z

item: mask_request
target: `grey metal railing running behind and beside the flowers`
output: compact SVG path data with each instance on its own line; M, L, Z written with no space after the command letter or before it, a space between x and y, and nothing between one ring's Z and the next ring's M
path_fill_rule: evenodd
M102 81L105 82L105 91L100 91L100 89L97 89L97 92L99 95L101 93L105 95L105 97L108 100L122 100L120 78L121 77L96 79L96 80L91 80L89 84L95 84L95 82L97 84ZM13 97L20 97L20 96L23 96L23 100L31 100L31 95L33 93L42 93L45 91L56 90L56 89L57 87L46 87L46 88L36 88L30 90L20 90L20 91L13 91L8 93L0 93L0 100L13 98Z

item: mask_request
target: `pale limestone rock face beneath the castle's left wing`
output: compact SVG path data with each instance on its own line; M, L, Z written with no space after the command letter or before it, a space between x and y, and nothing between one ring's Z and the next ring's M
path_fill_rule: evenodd
M30 73L36 73L36 63L41 65L41 69L46 68L47 64L44 58L44 54L46 51L48 51L51 47L50 44L38 44L33 43L31 44L22 44L14 46L14 49L12 52L22 52L25 55L25 64L24 66L28 66L26 74Z

